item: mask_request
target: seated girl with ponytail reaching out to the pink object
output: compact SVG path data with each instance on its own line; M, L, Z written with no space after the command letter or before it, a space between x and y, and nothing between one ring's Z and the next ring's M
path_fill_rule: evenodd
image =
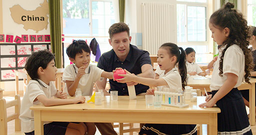
M179 51L180 50L180 51ZM181 52L181 53L180 53ZM175 64L178 62L178 68ZM186 65L185 52L181 47L174 43L164 43L160 46L157 52L157 63L161 70L158 79L139 77L129 73L126 69L126 74L121 79L116 79L118 82L134 81L148 86L162 86L178 89L186 85ZM147 94L154 94L152 89L146 91ZM196 134L195 124L145 124L139 134Z

